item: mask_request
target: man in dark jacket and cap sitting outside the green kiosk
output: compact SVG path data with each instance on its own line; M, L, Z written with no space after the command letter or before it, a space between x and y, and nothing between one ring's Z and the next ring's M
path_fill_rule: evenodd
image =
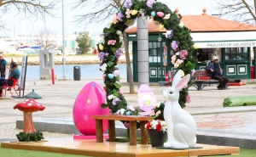
M227 86L227 83L230 81L227 77L222 75L223 70L218 64L218 57L213 57L213 62L210 63L205 70L210 71L211 79L218 80L218 90L224 90L224 87Z

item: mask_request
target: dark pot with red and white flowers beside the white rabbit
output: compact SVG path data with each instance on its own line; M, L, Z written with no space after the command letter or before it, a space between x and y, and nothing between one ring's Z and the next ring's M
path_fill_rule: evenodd
M146 124L145 127L148 130L152 147L162 147L166 138L166 121L148 121L148 124Z

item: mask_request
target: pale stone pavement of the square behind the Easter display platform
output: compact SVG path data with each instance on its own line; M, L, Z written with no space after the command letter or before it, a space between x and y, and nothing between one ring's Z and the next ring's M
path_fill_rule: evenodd
M62 119L65 121L69 118L70 122L70 118L73 117L74 100L79 91L89 81L96 81L102 84L102 79L100 78L82 79L80 81L55 81L55 85L52 85L51 81L26 81L24 95L31 93L32 89L34 89L34 92L42 97L37 101L46 106L44 111L32 114L33 121L41 121L43 119L52 119L51 121ZM129 86L125 82L126 80L121 81L128 105L137 107L137 94L129 94ZM217 90L215 85L214 87L205 87L203 91L197 91L195 87L189 87L189 95L192 101L186 104L187 107L185 109L195 118L198 143L256 149L256 105L223 107L224 98L230 96L256 96L256 80L250 80L250 82L253 84L229 87L227 90ZM164 99L161 92L166 87L159 87L155 83L152 83L150 87L154 91L157 101L162 102ZM24 98L11 98L9 92L6 98L0 98L0 142L16 140L15 134L22 132L22 130L16 128L16 121L23 121L23 113L18 109L13 109L13 107L23 100ZM43 133L45 138L73 136L73 134L56 132Z

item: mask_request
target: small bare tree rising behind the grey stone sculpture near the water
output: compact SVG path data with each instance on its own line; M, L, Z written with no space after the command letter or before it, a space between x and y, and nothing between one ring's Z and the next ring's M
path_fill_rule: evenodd
M39 45L44 49L48 49L55 42L55 34L51 30L44 30L39 32Z

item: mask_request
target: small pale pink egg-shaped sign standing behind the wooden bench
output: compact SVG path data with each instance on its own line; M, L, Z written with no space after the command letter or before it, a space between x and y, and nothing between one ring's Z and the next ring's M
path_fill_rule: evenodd
M141 85L137 92L137 103L140 106L140 109L143 109L145 112L149 112L151 109L154 109L154 104L156 104L156 98L148 85Z

